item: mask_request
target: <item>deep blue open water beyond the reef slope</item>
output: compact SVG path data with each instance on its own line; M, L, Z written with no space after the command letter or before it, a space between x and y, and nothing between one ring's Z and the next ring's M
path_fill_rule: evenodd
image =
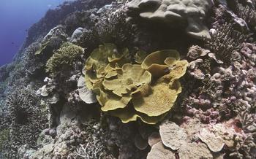
M64 1L67 0L0 0L0 66L12 61L30 26Z

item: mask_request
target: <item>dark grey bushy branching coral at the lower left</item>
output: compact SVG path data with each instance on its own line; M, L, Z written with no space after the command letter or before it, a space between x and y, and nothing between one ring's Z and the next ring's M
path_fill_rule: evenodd
M46 112L39 107L39 98L29 88L19 88L7 98L10 120L10 144L16 150L20 145L36 147L40 131L47 127Z

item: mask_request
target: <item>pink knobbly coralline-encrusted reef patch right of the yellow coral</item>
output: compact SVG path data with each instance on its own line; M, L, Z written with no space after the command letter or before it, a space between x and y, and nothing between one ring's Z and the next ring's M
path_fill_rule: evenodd
M255 48L255 44L244 44L239 53L240 61L234 61L230 66L216 66L211 70L211 74L200 69L208 57L191 61L190 76L206 85L193 90L188 97L187 114L199 117L205 123L212 123L219 122L222 113L227 118L231 117L241 105L255 106L256 68L252 61ZM198 72L207 76L202 76Z

